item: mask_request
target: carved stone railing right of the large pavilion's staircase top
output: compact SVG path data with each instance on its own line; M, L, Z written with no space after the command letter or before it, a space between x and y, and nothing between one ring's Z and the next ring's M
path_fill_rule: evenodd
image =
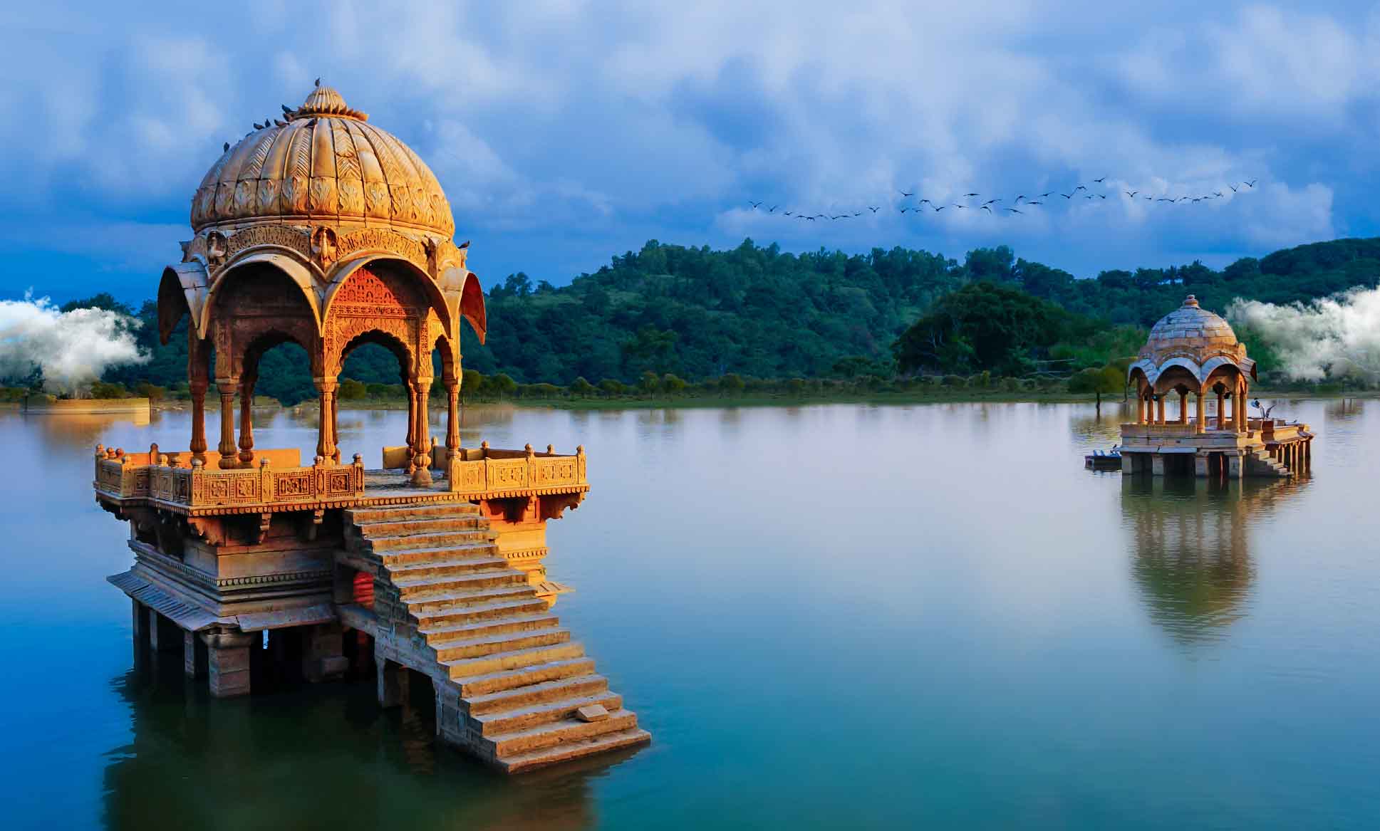
M491 450L484 442L477 450L457 450L447 460L447 479L451 493L471 498L589 490L584 446L575 447L574 456L560 456L551 444L545 453L535 453L531 444L523 450Z

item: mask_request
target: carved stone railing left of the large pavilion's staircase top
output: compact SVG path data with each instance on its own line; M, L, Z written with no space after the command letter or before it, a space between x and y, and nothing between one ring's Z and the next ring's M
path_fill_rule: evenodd
M200 460L179 467L174 454L110 454L97 450L95 490L115 500L168 507L248 508L348 500L364 493L364 464L339 465L317 457L310 467L273 467L275 457L297 461L297 450L259 451L258 468L210 468ZM184 454L175 454L184 456ZM190 457L190 454L185 454ZM152 457L152 458L150 458Z

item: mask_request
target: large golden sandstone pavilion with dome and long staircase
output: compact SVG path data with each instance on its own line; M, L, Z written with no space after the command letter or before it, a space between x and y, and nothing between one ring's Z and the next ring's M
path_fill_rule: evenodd
M181 650L219 697L283 674L375 674L393 707L424 683L440 739L505 772L646 743L551 613L564 587L542 566L545 523L589 489L584 449L460 444L460 330L483 341L484 297L417 153L317 86L225 146L192 231L157 295L164 342L186 320L186 449L95 454L97 500L130 523L134 565L109 580L134 602L137 653ZM309 458L254 446L259 356L287 341L319 393ZM368 451L375 468L337 444L338 375L363 344L397 358L410 396L407 433Z

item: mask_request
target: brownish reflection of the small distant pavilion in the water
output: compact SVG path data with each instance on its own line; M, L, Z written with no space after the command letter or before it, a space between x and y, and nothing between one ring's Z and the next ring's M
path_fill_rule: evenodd
M1123 476L1122 526L1151 620L1184 646L1225 638L1252 605L1252 525L1303 486Z

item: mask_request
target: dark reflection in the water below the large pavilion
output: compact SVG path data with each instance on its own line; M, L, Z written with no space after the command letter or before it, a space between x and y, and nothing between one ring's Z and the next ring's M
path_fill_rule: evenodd
M106 827L142 830L159 817L236 831L595 824L591 783L609 759L508 779L433 740L428 690L382 711L371 681L341 686L214 701L204 682L184 681L181 661L116 676L132 737L105 754Z

